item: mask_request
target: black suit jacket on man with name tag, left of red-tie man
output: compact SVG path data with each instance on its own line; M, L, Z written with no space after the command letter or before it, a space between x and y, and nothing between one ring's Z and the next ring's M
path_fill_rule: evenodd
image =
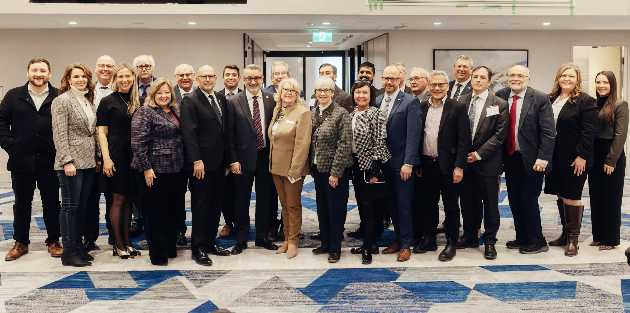
M459 101L466 104L466 111L470 109L473 92L459 97ZM498 113L488 116L488 107L498 107ZM508 102L488 93L483 107L477 107L479 122L473 138L473 145L468 152L476 152L481 160L474 162L474 170L479 175L496 176L503 173L503 153L501 146L508 134L508 119L510 111Z

